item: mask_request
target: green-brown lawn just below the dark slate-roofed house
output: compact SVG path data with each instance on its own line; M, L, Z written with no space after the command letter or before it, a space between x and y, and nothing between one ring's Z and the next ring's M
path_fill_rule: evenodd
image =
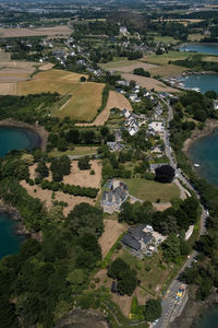
M137 279L141 280L141 294L143 296L156 297L160 293L169 274L167 265L161 263L161 250L150 258L145 257L143 260L140 260L123 249L121 257L131 268L137 271Z

